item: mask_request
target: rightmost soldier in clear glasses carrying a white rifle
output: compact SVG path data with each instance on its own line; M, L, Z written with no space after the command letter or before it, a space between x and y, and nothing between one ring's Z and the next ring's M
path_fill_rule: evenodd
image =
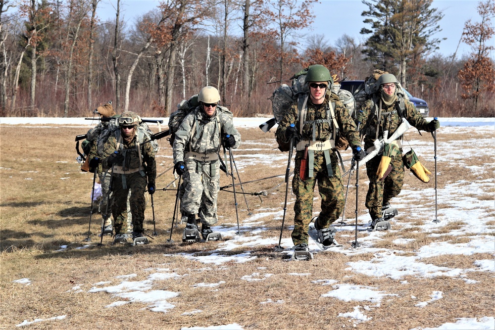
M401 124L402 118L421 131L434 132L440 127L437 119L427 122L414 105L402 96L393 74L384 73L378 77L375 90L372 97L362 105L362 112L356 115L356 122L360 122L363 128L361 132L364 135L365 150L373 146L373 141L382 139L385 131L388 131L389 137L392 136ZM402 137L390 144L396 148L397 155L392 157L390 165L387 164L388 170L381 168L384 164L381 154L366 162L366 172L370 181L366 195L366 207L372 220L371 230L390 228L387 220L397 214L396 209L393 209L394 212L391 211L389 203L393 197L398 195L404 181L404 164L401 157Z

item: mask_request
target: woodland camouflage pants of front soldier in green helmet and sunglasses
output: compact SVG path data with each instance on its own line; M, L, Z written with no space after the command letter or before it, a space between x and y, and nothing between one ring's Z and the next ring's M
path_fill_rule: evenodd
M314 172L312 178L302 181L299 178L301 159L296 157L296 167L292 189L296 195L294 204L294 231L292 241L294 245L308 243L308 225L313 215L314 187L318 182L318 191L321 197L321 212L318 216L320 228L327 228L336 221L344 208L344 187L341 182L341 172L335 153L330 155L334 176L328 177L327 165L323 153L316 153L314 157Z

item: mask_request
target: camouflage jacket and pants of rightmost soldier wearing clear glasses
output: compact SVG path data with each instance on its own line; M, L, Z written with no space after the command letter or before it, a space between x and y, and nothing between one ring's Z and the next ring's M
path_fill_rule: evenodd
M378 97L378 102L383 104L380 116L380 126L378 128L379 138L382 137L383 132L387 130L389 131L389 136L391 136L401 124L402 119L399 116L400 107L398 100L399 98L387 107ZM404 99L404 103L405 111L403 116L407 119L409 124L416 127L418 130L430 132L428 122L423 118L421 113L416 110L414 105L406 99ZM367 150L373 145L373 141L376 139L376 129L378 127L378 115L376 113L375 101L370 98L364 102L362 111L363 119L361 127L363 127L363 131L365 132L364 148ZM404 164L402 163L402 148L400 147L399 150L400 153L393 157L390 162L392 171L383 181L378 181L377 176L377 169L382 155L377 155L366 162L366 173L370 181L368 193L366 195L366 207L369 210L371 219L381 218L382 206L387 205L402 189Z

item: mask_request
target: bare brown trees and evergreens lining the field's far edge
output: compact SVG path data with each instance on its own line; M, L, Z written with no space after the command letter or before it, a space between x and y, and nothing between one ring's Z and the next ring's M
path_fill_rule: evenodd
M0 115L87 116L112 100L117 112L164 117L206 85L236 116L270 114L272 92L320 63L338 79L389 71L432 116L495 116L494 0L465 23L473 52L461 59L435 55L443 15L432 0L366 1L368 39L343 35L336 45L298 35L314 2L169 0L131 26L121 19L125 0L111 21L99 19L100 0L0 1Z

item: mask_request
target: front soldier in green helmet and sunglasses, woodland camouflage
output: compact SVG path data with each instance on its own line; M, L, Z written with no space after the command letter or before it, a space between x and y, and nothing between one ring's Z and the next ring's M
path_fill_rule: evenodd
M294 141L296 165L292 189L294 204L294 231L292 240L296 251L308 251L308 226L313 213L313 194L316 183L321 196L321 212L315 219L320 243L333 245L335 230L330 225L341 215L344 186L335 148L336 131L349 141L356 159L364 156L356 125L346 107L335 93L329 70L323 65L312 65L306 75L309 92L301 95L285 114L277 128L277 139ZM295 125L291 125L295 124Z

